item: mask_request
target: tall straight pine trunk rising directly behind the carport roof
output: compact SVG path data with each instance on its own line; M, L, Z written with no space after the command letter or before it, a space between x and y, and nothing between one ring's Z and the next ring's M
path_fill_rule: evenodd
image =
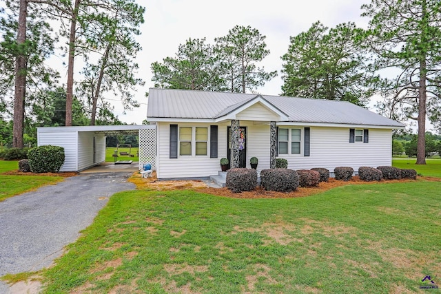
M69 57L68 57L68 89L66 91L66 122L65 125L72 125L72 99L74 95L74 60L75 60L75 39L76 39L76 19L81 0L75 0L72 19L70 21L69 35Z

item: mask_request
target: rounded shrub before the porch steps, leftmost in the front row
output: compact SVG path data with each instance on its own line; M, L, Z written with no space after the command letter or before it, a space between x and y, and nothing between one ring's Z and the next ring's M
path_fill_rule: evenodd
M229 169L225 186L234 193L252 191L257 186L256 169Z

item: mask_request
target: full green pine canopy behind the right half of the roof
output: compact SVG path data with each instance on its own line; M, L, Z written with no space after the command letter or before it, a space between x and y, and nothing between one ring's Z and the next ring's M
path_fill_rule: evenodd
M355 23L327 28L320 21L291 36L282 56L283 95L366 105L380 81L369 70L369 54L356 39Z

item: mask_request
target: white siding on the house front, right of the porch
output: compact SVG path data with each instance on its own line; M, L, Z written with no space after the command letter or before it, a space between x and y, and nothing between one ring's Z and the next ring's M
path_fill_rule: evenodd
M283 126L279 126L283 127ZM349 143L349 127L311 127L311 155L280 154L278 158L288 160L289 169L311 169L325 167L378 167L391 165L391 129L369 129L369 143Z

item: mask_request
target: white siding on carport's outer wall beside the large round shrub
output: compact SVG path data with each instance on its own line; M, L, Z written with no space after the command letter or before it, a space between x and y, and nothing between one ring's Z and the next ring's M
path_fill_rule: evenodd
M64 148L65 160L60 171L77 171L77 132L39 133L38 145L54 145Z

